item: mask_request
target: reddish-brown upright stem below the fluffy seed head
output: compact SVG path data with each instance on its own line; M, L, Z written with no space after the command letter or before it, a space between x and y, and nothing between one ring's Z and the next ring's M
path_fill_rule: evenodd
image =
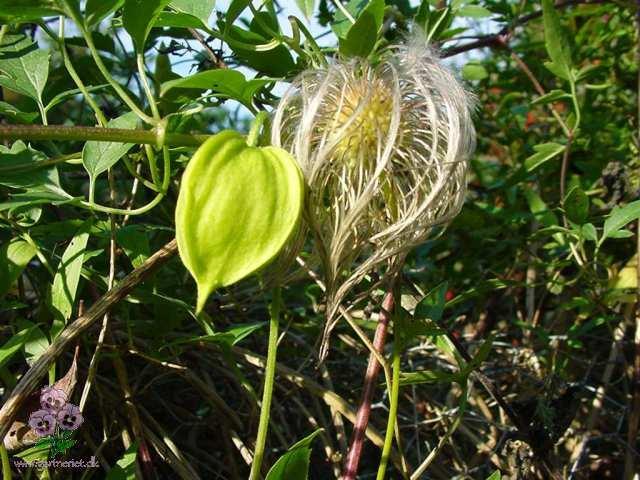
M378 353L383 353L384 351L384 343L387 338L387 330L391 311L393 310L393 304L393 292L389 290L382 302L382 311L380 312L380 318L378 319L378 325L376 326L376 333L373 337L373 348L375 348ZM354 423L351 446L349 447L349 453L347 454L347 459L344 464L342 480L355 480L356 474L358 473L358 464L360 463L360 457L362 456L365 432L367 430L367 425L369 425L369 415L371 414L371 400L376 388L376 379L378 378L379 373L380 363L376 359L376 356L371 353L369 355L367 373L364 377L362 398L360 400L360 406L358 407L358 413L356 414L356 421Z

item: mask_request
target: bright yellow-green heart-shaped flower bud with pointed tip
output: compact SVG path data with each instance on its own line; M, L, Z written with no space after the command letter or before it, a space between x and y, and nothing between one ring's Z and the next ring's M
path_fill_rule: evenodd
M303 193L300 170L285 150L250 147L234 131L202 144L176 206L178 249L198 284L198 312L215 289L278 254L298 225Z

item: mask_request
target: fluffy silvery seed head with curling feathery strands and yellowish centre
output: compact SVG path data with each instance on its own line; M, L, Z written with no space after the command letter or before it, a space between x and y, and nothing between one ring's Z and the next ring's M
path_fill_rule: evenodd
M460 210L475 147L470 96L424 44L376 66L336 60L303 72L280 101L272 143L308 185L305 216L327 286L325 340L345 294L399 266ZM326 342L323 342L326 347Z

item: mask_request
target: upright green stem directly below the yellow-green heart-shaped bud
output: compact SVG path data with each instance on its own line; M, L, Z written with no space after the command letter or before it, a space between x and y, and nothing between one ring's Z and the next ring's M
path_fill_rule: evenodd
M267 431L269 429L269 411L271 410L271 398L273 397L273 383L276 376L276 353L278 350L278 323L280 322L280 288L273 290L273 300L269 313L269 347L267 350L267 364L264 371L264 390L262 391L262 405L260 409L260 423L258 425L258 437L256 438L256 448L251 463L251 474L249 480L260 478L260 468L264 457L264 447L267 442Z

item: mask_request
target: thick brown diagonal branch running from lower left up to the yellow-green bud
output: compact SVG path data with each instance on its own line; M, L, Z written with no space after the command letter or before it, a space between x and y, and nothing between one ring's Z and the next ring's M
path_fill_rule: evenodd
M27 397L38 388L42 377L47 373L49 365L87 328L112 309L118 302L124 299L137 285L144 281L155 269L165 264L178 250L175 240L171 240L164 247L147 259L140 267L136 268L129 275L122 279L113 289L106 292L102 297L70 323L60 333L47 350L38 358L27 373L20 379L16 387L11 392L7 401L0 409L0 438L4 438L11 422L15 419L20 405Z

